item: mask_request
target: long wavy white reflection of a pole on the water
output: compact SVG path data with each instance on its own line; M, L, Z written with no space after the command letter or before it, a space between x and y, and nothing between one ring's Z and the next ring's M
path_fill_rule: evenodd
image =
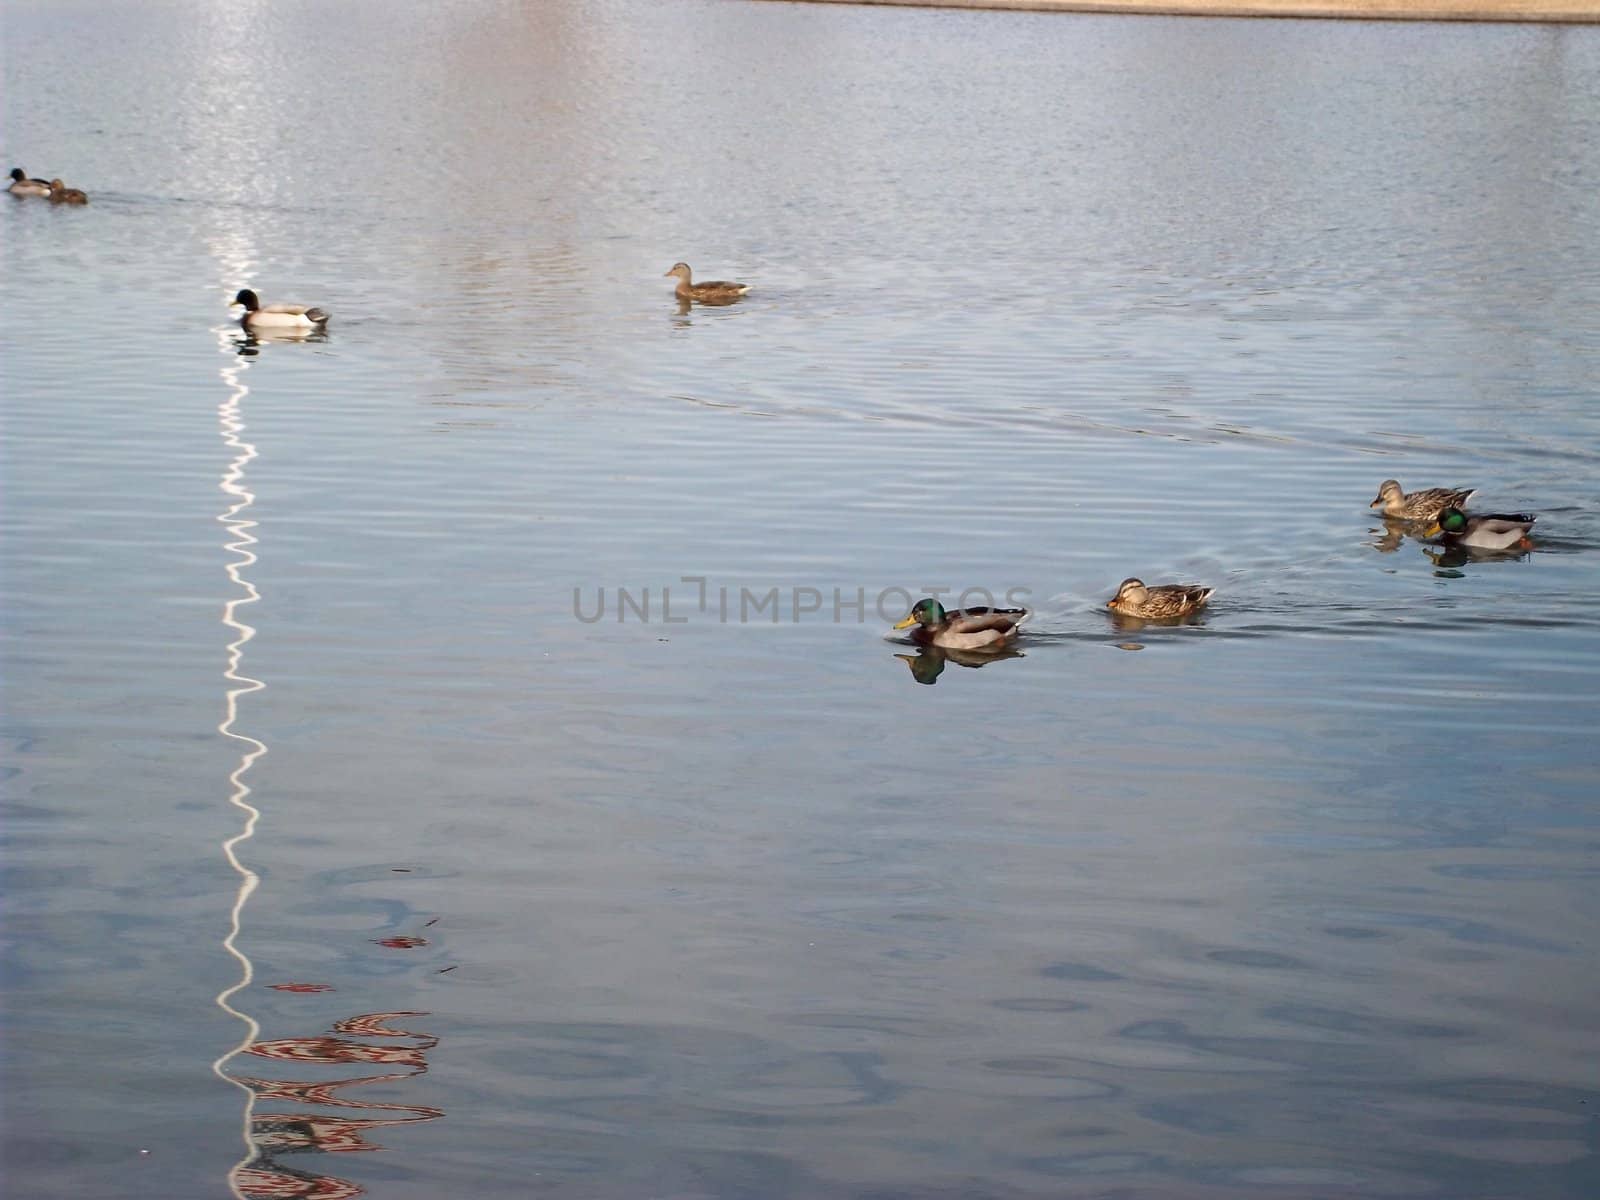
M227 667L222 670L222 682L227 691L222 709L222 723L218 725L216 730L224 738L242 742L238 765L227 776L227 802L245 814L245 824L234 837L222 843L222 858L227 859L227 864L238 875L238 891L234 896L234 907L229 912L227 936L222 939L222 949L234 955L238 962L238 979L232 986L218 992L216 1005L229 1016L242 1021L245 1034L235 1046L224 1051L221 1058L211 1064L211 1070L216 1072L219 1078L227 1080L245 1093L242 1125L245 1154L237 1163L234 1163L234 1166L229 1168L227 1173L229 1190L243 1200L243 1192L238 1189L238 1173L256 1157L256 1142L251 1138L256 1093L248 1085L240 1083L229 1075L224 1067L234 1059L235 1054L248 1050L261 1035L259 1022L248 1013L242 1013L234 1008L232 998L248 987L254 978L254 965L245 952L238 949L237 942L245 902L256 890L256 883L259 883L261 877L238 861L238 845L242 842L248 842L254 835L256 821L261 819L261 810L248 800L250 784L245 782L245 774L254 765L256 758L267 752L267 746L246 733L240 733L235 728L235 722L238 720L240 698L248 696L251 691L259 691L267 685L258 678L245 675L240 670L240 664L245 659L245 645L256 635L256 630L253 626L238 619L238 610L245 605L256 603L261 598L261 592L258 592L256 586L245 578L245 568L256 562L256 555L250 549L256 544L256 536L251 533L256 523L242 515L256 501L254 493L245 486L245 467L253 458L256 458L256 448L240 437L245 430L245 422L240 418L240 405L245 397L250 395L250 387L245 386L243 374L250 370L250 363L248 360L238 357L238 344L230 336L234 330L227 326L218 330L222 354L229 357L227 365L221 368L222 382L227 386L229 394L218 408L218 427L222 437L222 445L234 451L234 458L222 472L222 482L219 485L222 493L227 494L232 502L218 515L218 520L222 522L222 526L227 530L230 538L230 541L224 542L222 547L229 555L232 555L224 570L227 571L229 581L235 587L235 594L230 595L222 605L222 626L232 634L234 640L227 643Z

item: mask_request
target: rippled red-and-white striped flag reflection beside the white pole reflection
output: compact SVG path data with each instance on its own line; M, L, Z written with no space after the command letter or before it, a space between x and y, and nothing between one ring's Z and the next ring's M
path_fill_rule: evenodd
M258 1040L246 1054L278 1062L346 1066L378 1064L405 1067L381 1075L352 1075L333 1080L278 1080L235 1077L254 1093L254 1101L275 1102L275 1112L251 1112L250 1136L254 1157L234 1171L232 1182L245 1200L336 1200L362 1195L365 1189L349 1179L296 1170L277 1162L278 1155L350 1154L381 1150L370 1141L374 1130L392 1125L416 1125L443 1117L442 1109L427 1104L370 1102L344 1096L349 1088L371 1083L394 1083L427 1072L427 1054L438 1045L430 1034L398 1029L395 1022L427 1013L362 1013L336 1022L328 1034ZM376 1040L360 1040L376 1038ZM402 1045L403 1040L403 1045ZM282 1106L301 1106L283 1109ZM360 1109L374 1117L347 1117L314 1109Z

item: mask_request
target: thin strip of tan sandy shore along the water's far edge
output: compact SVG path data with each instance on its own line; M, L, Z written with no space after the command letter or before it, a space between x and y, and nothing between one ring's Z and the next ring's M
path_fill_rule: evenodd
M1600 0L808 0L810 3L1013 8L1155 16L1298 16L1355 21L1600 22Z

